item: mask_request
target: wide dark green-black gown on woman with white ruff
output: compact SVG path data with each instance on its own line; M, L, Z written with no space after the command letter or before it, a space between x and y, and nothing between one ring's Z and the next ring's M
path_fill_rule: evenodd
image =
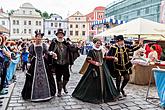
M86 60L88 61L88 59L103 64L100 67L89 64L87 71L82 76L72 93L72 96L90 103L114 101L118 98L119 93L117 92L106 64L103 61L102 51L90 50Z

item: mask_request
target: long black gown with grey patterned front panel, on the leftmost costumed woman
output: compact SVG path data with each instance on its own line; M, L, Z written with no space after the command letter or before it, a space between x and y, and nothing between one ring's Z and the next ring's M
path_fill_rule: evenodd
M56 93L55 81L48 66L46 44L29 47L31 65L26 74L25 85L22 90L23 99L31 101L45 101Z

